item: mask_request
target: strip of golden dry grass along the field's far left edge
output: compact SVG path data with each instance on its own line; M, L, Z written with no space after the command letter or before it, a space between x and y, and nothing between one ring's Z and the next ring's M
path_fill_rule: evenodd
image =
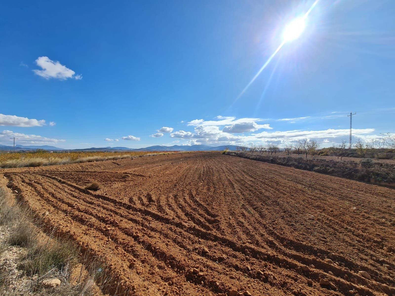
M0 168L40 167L173 154L177 152L24 152L0 153Z

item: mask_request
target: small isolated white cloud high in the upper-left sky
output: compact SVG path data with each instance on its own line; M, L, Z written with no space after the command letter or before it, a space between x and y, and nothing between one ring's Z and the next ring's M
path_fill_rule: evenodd
M82 79L82 75L75 75L75 72L59 62L49 59L47 56L40 56L36 60L37 66L42 70L33 70L36 75L44 77L45 79L55 78L66 80L68 78Z

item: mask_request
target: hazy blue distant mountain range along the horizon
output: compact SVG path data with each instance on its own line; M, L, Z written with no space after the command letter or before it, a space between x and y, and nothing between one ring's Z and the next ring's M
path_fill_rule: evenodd
M223 145L223 146L208 146L208 145L192 145L192 146L181 146L181 145L173 145L173 146L149 146L146 148L133 149L128 147L92 147L92 148L84 148L84 149L72 149L70 151L117 151L117 150L132 150L132 151L220 151L224 150L226 147L229 150L236 150L235 145ZM66 150L63 148L58 148L55 146L24 146L24 145L15 145L15 150L36 150L36 149L44 149L44 150ZM13 146L0 145L0 150L14 150Z

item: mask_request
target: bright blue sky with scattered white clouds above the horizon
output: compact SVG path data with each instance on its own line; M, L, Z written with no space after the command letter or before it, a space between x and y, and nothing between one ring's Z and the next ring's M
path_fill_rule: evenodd
M394 133L393 1L318 1L243 92L313 3L5 2L0 144L329 146L350 111L354 140Z

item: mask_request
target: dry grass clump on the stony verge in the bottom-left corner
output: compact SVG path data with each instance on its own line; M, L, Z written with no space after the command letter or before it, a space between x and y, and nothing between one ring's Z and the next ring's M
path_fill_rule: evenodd
M0 295L37 295L37 296L93 296L94 280L99 280L97 270L81 275L75 283L71 284L71 270L78 263L78 251L70 243L56 238L55 232L44 236L35 226L40 221L34 219L28 210L18 205L9 206L8 196L4 189L0 188L0 227L7 229L6 240L0 243L0 257L12 245L18 245L24 249L19 257L17 268L23 271L23 275L31 278L28 285L21 289L13 290L10 285L17 284L9 275L4 266L0 266ZM88 262L87 258L82 261ZM93 261L91 261L93 262ZM93 268L92 268L93 267ZM81 267L82 268L82 267ZM44 288L41 285L43 279L58 278L61 285L53 288ZM96 287L96 289L98 289ZM97 291L96 291L97 292Z

